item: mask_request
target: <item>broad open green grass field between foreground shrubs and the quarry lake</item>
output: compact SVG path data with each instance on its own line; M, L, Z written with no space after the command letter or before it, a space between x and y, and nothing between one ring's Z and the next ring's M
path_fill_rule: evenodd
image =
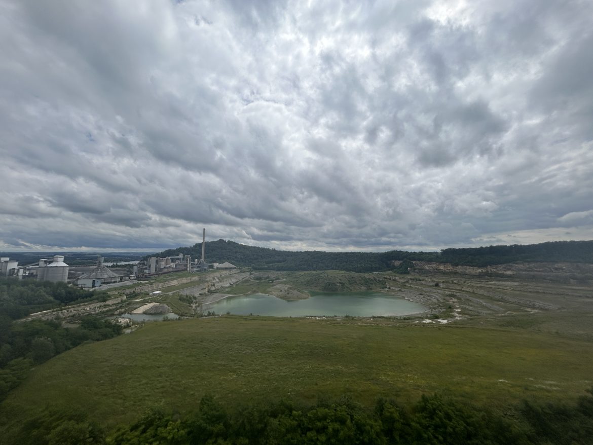
M224 316L146 323L37 367L0 405L4 434L37 412L88 412L106 427L149 406L186 411L350 395L371 405L442 392L503 409L593 385L590 341L525 329Z

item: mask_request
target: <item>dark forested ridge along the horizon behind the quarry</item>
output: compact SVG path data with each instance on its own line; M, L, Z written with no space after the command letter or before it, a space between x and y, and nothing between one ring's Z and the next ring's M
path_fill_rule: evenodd
M178 247L159 253L174 256L179 253L200 258L202 244ZM431 261L464 266L489 266L512 262L581 262L593 263L593 241L553 241L521 246L488 246L466 249L444 249L441 252L289 252L288 250L251 247L234 241L207 241L206 261L228 261L235 266L276 271L340 270L373 272L393 269L394 260Z

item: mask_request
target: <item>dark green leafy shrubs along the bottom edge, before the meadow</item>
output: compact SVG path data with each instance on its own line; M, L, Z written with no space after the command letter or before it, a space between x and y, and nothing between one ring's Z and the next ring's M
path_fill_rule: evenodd
M107 434L80 412L47 411L25 423L13 443L577 445L591 443L592 428L591 396L570 406L524 402L512 416L439 395L422 396L408 406L380 399L374 409L345 398L233 412L205 396L190 414L149 408L136 422Z

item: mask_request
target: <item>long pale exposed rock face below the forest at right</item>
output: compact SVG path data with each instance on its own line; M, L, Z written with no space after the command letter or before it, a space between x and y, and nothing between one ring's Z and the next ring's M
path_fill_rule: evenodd
M398 261L393 262L394 267ZM586 263L509 263L482 268L454 266L449 263L414 261L417 271L466 274L514 276L524 279L547 279L549 281L593 281L593 264Z

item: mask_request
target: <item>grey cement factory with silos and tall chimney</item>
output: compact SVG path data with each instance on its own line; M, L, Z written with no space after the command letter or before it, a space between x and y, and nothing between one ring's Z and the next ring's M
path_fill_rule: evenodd
M148 261L117 268L107 268L103 257L97 258L95 265L68 266L63 255L53 258L42 258L36 263L19 266L17 261L8 257L0 257L0 276L15 276L18 279L37 279L39 281L68 282L82 288L97 288L106 284L128 281L130 279L148 278L151 275L170 274L172 272L200 272L209 268L235 269L229 262L206 263L206 229L202 236L202 258L194 259L180 253L176 256L158 258L151 256Z

